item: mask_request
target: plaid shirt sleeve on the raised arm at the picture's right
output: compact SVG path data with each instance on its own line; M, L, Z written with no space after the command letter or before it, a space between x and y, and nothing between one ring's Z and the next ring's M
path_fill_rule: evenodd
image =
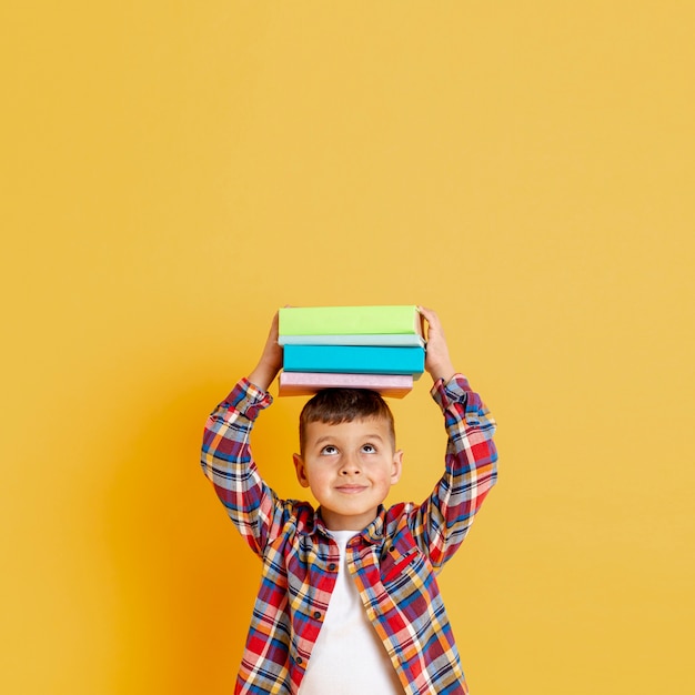
M437 381L432 397L442 409L449 436L444 474L415 510L412 531L435 571L456 552L497 480L496 423L462 374Z

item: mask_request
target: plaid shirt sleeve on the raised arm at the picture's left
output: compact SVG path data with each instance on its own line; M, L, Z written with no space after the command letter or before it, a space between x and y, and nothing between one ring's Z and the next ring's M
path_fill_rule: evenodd
M201 453L203 473L241 535L259 555L282 503L261 477L249 440L259 413L272 402L270 393L242 379L208 417Z

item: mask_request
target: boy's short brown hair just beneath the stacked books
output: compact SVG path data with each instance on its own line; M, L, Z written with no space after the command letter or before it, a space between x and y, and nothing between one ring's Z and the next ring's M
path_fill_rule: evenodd
M395 449L393 413L376 391L369 389L322 389L309 400L300 414L300 451L304 453L306 425L323 422L338 425L353 420L384 419Z

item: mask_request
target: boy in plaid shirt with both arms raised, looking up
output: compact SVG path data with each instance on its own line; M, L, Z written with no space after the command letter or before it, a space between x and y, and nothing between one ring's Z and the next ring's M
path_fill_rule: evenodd
M403 453L371 391L325 390L302 411L294 466L316 511L263 482L249 436L282 366L276 315L258 365L208 421L203 471L263 561L236 694L467 693L435 574L495 483L495 423L453 369L436 314L420 310L449 434L443 476L423 504L382 505Z

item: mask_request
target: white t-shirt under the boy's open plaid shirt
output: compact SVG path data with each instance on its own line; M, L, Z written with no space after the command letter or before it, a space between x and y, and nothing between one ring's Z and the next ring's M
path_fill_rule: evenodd
M356 531L331 531L340 548L335 588L311 653L300 695L403 695L403 686L366 617L350 575L346 545Z

